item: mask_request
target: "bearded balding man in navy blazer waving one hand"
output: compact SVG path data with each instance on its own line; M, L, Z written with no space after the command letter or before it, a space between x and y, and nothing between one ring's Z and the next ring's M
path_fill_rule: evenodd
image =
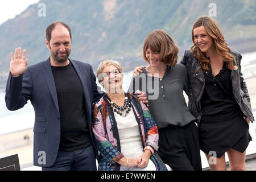
M51 56L27 67L26 50L11 53L6 106L35 110L34 165L43 170L96 170L92 104L102 96L90 64L69 59L72 34L62 22L46 29Z

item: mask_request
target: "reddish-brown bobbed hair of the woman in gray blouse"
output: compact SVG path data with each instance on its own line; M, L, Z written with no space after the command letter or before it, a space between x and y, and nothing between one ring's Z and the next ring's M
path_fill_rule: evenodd
M164 30L154 30L147 35L143 45L143 59L150 63L146 57L146 51L150 48L152 52L159 52L159 61L175 67L179 48L174 40Z

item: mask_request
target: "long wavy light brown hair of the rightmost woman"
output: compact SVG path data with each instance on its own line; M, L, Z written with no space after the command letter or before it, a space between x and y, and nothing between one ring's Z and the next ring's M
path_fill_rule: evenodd
M203 71L209 71L210 68L210 60L205 57L205 54L201 52L200 48L196 46L195 38L193 31L197 27L204 26L207 33L210 35L210 37L213 39L214 46L217 50L218 55L226 61L226 65L229 69L234 69L233 67L233 60L234 57L231 53L231 49L228 47L228 44L226 43L226 40L224 36L221 33L220 27L218 26L218 23L213 18L210 18L209 16L202 16L199 19L196 20L196 22L193 24L192 28L192 42L193 46L191 47L192 52L196 56L196 58L200 61L200 66L203 69Z

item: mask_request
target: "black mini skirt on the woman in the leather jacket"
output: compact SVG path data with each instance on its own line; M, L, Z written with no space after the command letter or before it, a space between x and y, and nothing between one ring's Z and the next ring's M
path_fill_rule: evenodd
M228 119L202 120L199 126L200 150L220 158L230 148L244 152L252 140L249 124L241 116ZM209 153L210 152L210 153Z

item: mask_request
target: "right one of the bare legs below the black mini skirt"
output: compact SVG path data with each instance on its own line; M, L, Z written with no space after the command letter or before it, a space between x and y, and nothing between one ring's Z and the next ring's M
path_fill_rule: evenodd
M245 171L245 153L238 152L233 148L230 148L228 151L229 157L229 166L231 171Z

